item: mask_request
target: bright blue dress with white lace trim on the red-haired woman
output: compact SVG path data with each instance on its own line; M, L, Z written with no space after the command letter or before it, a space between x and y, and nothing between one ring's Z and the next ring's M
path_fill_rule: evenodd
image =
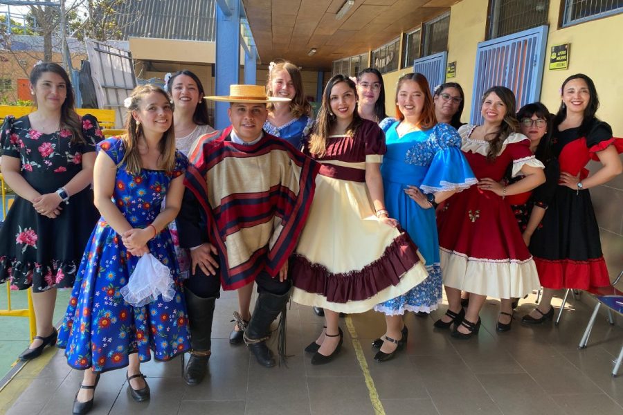
M442 299L439 240L435 210L422 209L404 192L409 185L424 194L463 190L478 181L461 153L461 137L449 124L399 137L400 123L381 122L386 132L387 153L381 165L385 205L399 221L426 260L428 278L408 293L378 304L374 310L386 315L405 311L429 313Z

